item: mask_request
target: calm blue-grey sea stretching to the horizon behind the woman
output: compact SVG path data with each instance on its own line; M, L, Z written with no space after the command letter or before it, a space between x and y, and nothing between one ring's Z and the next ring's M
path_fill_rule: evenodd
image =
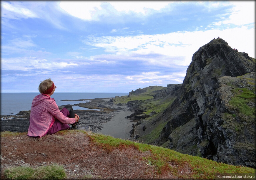
M54 92L51 98L54 98L56 104L59 106L67 104L78 104L87 102L81 99L95 99L116 96L126 96L129 93L124 92ZM1 115L15 115L20 111L28 111L31 109L31 103L35 96L39 95L37 92L20 92L8 93L1 92ZM61 100L80 100L80 101L61 101ZM87 110L87 108L73 106L74 110Z

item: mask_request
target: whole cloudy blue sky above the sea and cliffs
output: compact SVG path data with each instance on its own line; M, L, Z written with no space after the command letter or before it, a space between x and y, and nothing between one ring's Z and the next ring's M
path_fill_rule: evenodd
M1 1L1 92L179 84L217 37L255 58L255 1Z

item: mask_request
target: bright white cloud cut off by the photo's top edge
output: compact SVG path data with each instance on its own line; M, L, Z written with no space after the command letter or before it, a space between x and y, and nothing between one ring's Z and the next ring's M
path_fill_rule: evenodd
M117 13L151 14L160 11L172 1L60 1L59 7L66 13L83 20L99 20L102 15Z

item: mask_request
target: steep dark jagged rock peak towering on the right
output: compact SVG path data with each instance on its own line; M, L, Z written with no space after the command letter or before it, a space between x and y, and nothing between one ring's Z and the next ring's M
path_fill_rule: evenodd
M221 38L199 48L179 96L156 120L167 123L155 144L170 142L169 148L179 152L255 168L255 114L229 104L239 88L245 88L254 91L247 106L255 111L251 72L255 61Z

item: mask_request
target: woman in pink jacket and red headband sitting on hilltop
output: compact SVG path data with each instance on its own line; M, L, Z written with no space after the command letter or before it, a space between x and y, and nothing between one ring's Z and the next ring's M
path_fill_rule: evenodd
M28 136L43 137L46 134L54 134L65 129L89 130L89 126L79 125L79 116L74 114L71 105L66 105L61 111L53 95L57 87L51 79L42 81L38 87L39 95L34 97L31 105ZM71 128L68 124L71 124Z

